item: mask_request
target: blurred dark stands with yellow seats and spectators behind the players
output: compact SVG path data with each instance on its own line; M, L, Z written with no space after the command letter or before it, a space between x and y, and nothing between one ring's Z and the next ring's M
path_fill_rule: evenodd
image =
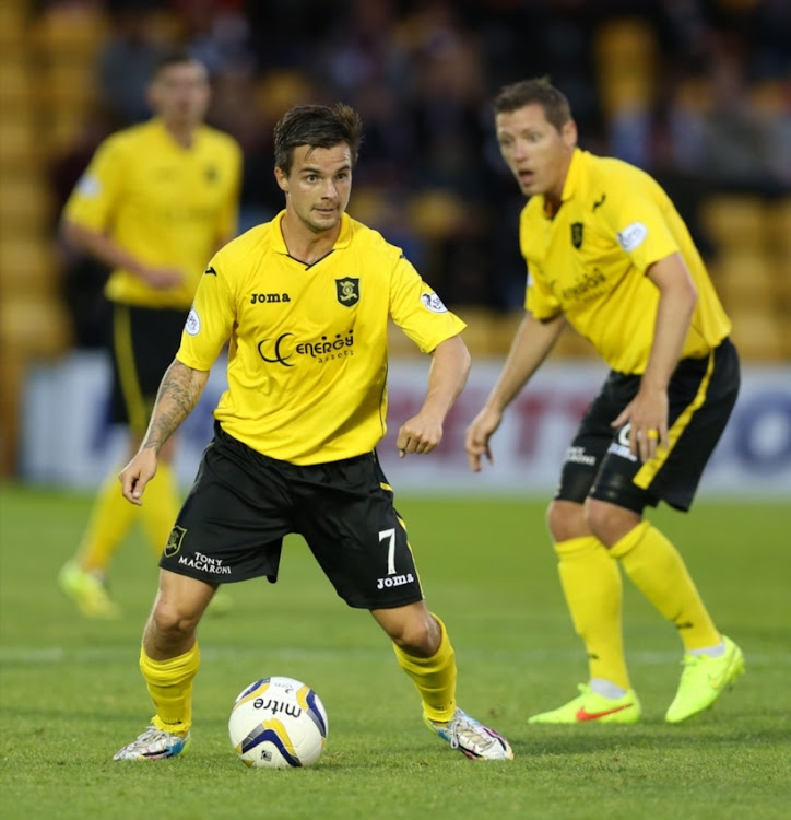
M3 441L32 363L102 343L106 271L63 247L57 222L98 142L150 115L151 68L175 44L209 66L209 121L243 145L240 230L283 206L272 128L287 107L362 113L350 213L404 248L476 355L507 349L526 278L492 98L548 74L582 148L674 198L743 358L791 360L789 0L2 0ZM566 337L558 355L588 354Z

